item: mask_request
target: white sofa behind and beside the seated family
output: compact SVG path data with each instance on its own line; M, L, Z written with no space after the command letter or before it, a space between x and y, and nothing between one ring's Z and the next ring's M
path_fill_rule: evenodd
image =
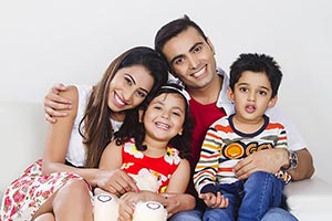
M0 198L11 180L41 158L48 123L42 103L0 103ZM328 162L326 162L328 164ZM332 189L319 177L291 182L286 188L288 203L300 221L332 220Z

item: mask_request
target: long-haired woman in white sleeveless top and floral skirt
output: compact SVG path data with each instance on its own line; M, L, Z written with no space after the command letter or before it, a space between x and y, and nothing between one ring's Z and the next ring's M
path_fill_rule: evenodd
M73 108L69 117L50 125L43 159L6 191L0 220L93 220L92 188L137 190L126 173L97 166L125 116L166 81L164 61L154 50L138 46L116 57L93 87L63 92Z

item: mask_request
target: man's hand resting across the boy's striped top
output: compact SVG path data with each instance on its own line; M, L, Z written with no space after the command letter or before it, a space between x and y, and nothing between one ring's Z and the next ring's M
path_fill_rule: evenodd
M288 165L286 149L264 149L240 160L235 167L235 173L239 179L247 179L252 172L266 171L276 173L284 165Z

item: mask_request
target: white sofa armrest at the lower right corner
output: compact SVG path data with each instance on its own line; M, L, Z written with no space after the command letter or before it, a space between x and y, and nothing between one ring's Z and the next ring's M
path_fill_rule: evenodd
M289 183L284 192L290 211L300 221L331 220L331 187L319 177Z

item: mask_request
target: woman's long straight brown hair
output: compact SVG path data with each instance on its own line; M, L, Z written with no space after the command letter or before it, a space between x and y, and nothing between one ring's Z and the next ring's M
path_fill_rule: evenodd
M117 56L110 64L102 80L93 86L84 117L80 123L80 134L83 136L86 146L85 167L98 167L103 150L113 139L114 131L111 124L112 109L107 105L108 85L118 70L133 65L143 65L154 78L153 87L142 103L143 105L167 82L168 72L166 63L153 49L147 46L131 49ZM125 110L126 117L132 112L135 110Z

